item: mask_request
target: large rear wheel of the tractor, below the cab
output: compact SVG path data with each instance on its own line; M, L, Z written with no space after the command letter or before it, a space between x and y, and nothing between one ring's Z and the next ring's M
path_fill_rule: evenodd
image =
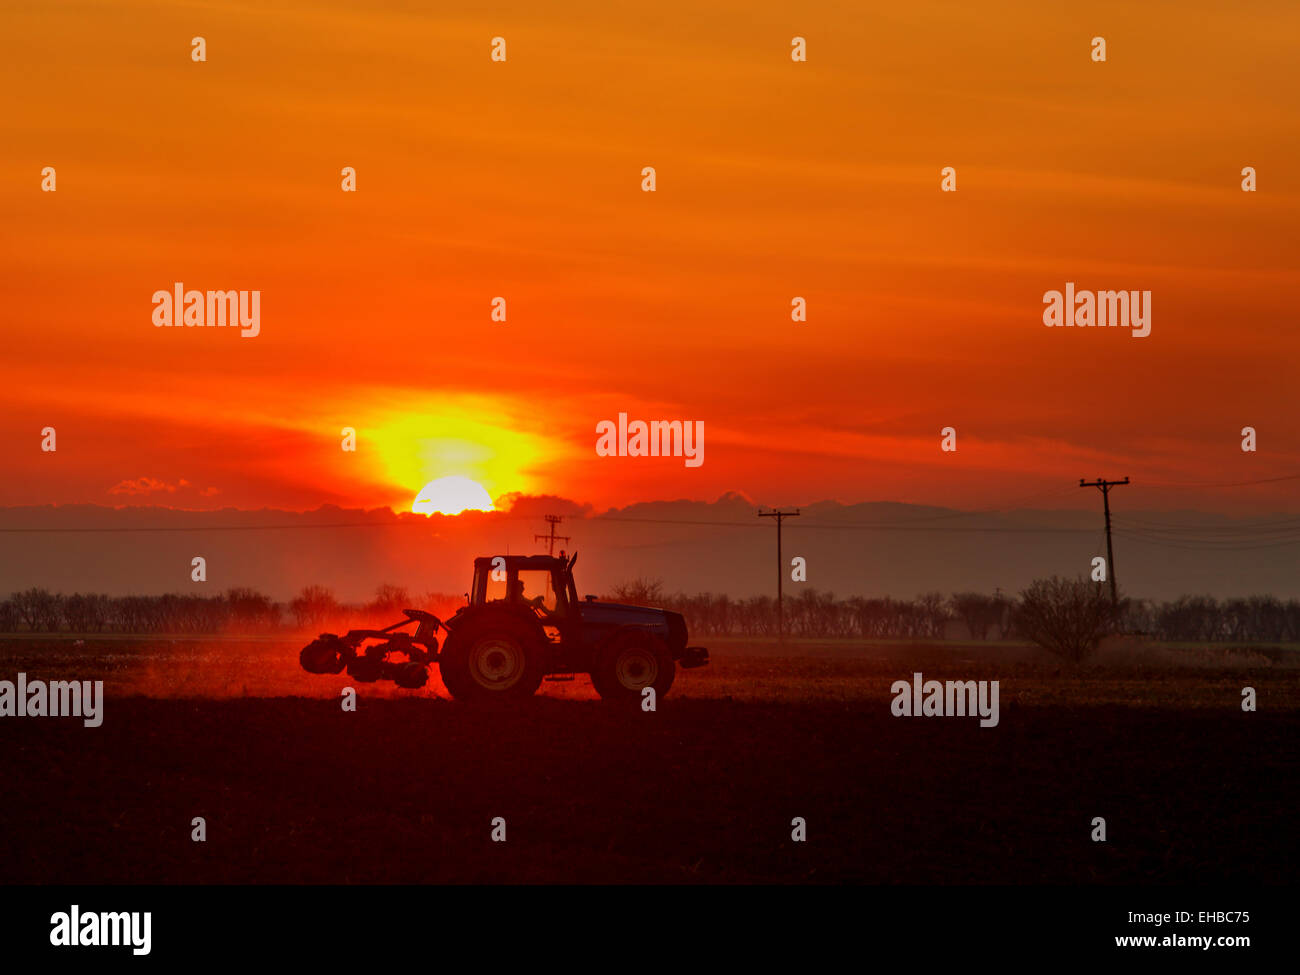
M541 686L546 662L521 628L489 624L455 633L438 667L458 701L517 701Z

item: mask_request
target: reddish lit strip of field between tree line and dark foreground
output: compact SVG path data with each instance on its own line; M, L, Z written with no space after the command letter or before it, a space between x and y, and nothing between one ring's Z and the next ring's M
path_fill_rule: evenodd
M338 697L356 685L346 673L313 676L298 666L302 640L8 638L0 640L0 680L30 677L104 680L113 697L157 698ZM1300 707L1300 653L1264 647L1192 645L1160 647L1117 641L1095 662L1065 664L1014 642L712 640L712 663L679 671L672 698L737 701L883 699L893 681L927 677L998 680L1004 701L1018 703L1217 707L1240 697L1245 675L1268 689L1273 706ZM391 682L359 685L365 698L447 697L432 668L429 684L402 690ZM545 697L597 699L590 681L542 685Z

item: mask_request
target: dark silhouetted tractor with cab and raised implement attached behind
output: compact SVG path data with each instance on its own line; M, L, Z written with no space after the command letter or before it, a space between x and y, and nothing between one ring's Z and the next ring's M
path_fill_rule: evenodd
M454 616L403 610L406 619L384 629L321 633L299 660L311 673L346 670L358 681L402 688L424 686L436 663L459 701L515 701L542 680L588 673L597 693L616 702L640 701L645 688L662 697L679 666L708 663L705 647L686 646L681 614L594 595L580 601L576 563L576 554L564 552L477 558L469 602Z

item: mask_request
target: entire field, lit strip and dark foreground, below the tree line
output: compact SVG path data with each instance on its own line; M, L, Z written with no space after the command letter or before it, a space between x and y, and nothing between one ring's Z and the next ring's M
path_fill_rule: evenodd
M348 714L299 641L3 640L0 680L101 679L107 702L100 728L0 719L0 883L1295 879L1288 658L711 642L654 714L584 677L507 711L360 685ZM914 671L998 680L1000 724L893 718Z

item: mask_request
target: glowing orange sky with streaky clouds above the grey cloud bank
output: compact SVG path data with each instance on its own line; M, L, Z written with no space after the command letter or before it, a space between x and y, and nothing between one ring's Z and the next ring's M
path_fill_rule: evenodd
M984 506L1128 474L1296 510L1294 481L1173 486L1300 469L1295 4L424 6L0 13L0 504L406 507L465 474ZM261 334L155 329L176 281L260 290ZM1066 281L1150 290L1150 337L1045 329ZM702 420L705 464L598 458L620 411Z

